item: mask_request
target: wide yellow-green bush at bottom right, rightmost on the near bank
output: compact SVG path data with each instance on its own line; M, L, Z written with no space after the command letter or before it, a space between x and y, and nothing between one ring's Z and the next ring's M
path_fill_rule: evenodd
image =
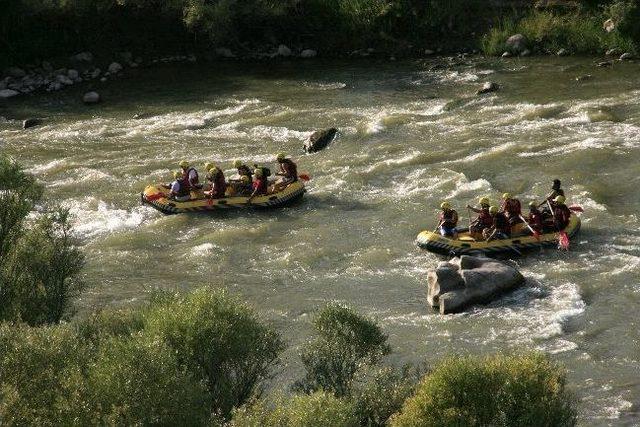
M441 362L391 420L404 426L573 426L566 374L540 353Z

